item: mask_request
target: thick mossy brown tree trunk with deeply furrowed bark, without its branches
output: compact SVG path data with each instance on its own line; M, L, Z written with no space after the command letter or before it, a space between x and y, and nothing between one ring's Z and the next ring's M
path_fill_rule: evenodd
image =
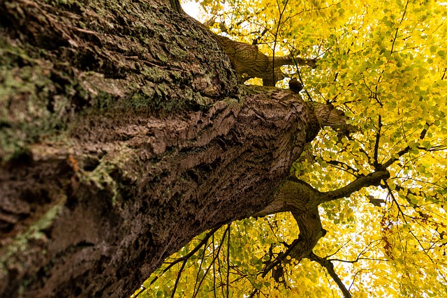
M1 297L129 295L263 211L315 121L163 3L63 2L0 3Z

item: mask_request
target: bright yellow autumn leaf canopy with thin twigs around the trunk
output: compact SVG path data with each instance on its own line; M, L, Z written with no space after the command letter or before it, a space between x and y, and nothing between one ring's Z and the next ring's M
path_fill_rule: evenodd
M273 61L285 55L317 59L316 67L282 70L302 82L305 100L343 110L354 129L322 130L294 164L296 178L319 192L380 170L389 178L320 204L327 232L300 262L288 255L300 234L290 213L248 218L201 234L134 297L346 297L343 287L355 297L445 294L447 4L200 5L202 20L215 22L212 31L256 44ZM277 85L285 87L287 80Z

